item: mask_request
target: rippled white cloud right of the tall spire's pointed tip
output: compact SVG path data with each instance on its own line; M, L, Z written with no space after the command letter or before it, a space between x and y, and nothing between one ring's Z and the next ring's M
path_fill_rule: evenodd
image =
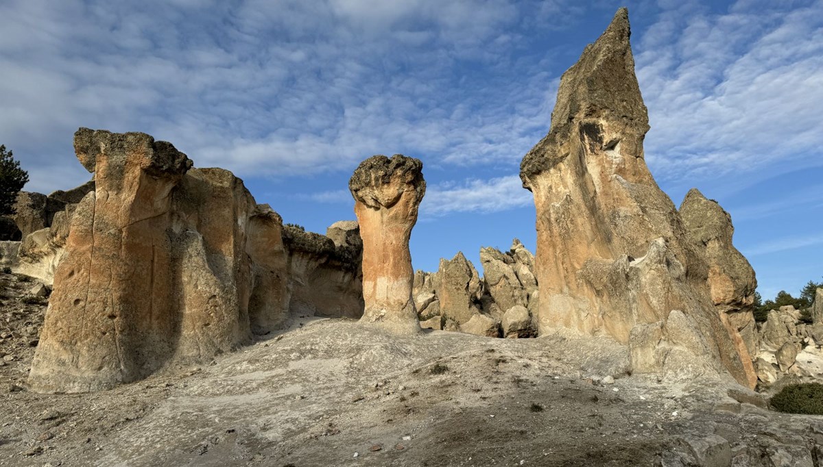
M818 164L823 2L792 12L739 3L723 15L664 15L639 42L638 76L659 178Z

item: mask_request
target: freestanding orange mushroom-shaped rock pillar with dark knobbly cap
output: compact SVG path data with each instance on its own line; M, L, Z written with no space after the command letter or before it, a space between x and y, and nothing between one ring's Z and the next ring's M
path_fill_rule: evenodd
M363 238L361 322L395 334L421 331L412 300L409 238L425 194L423 163L404 155L375 155L360 163L349 181Z

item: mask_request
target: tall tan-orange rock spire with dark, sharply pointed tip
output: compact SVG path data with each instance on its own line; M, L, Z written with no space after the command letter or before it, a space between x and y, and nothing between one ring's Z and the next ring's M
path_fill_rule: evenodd
M701 368L754 386L751 359L740 356L745 344L732 340L714 311L707 266L645 164L649 121L629 36L621 9L561 78L551 129L520 165L537 208L539 331L566 328L630 344L635 326L660 323L658 347L669 350L656 354L656 371L677 374L698 359ZM667 332L672 317L678 329L692 326L693 340Z

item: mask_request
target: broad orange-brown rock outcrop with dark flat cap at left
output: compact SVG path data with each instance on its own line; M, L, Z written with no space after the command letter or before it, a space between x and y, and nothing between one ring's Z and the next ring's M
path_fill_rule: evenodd
M202 363L277 322L281 220L239 178L191 169L143 133L81 128L74 146L96 189L71 217L33 389L94 391Z

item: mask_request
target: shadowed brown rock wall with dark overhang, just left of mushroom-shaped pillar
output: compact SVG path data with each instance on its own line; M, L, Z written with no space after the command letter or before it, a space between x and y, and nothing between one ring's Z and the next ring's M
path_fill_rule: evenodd
M327 236L286 226L283 242L291 314L349 318L363 315L363 243L356 222L332 224Z

